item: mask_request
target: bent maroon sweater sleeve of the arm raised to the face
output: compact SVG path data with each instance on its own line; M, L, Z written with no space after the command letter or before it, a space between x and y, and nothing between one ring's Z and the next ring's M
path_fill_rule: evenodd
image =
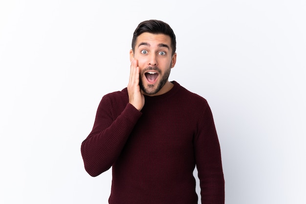
M123 112L113 118L109 97L102 98L93 129L81 145L84 166L90 176L98 176L112 166L141 114L128 103Z

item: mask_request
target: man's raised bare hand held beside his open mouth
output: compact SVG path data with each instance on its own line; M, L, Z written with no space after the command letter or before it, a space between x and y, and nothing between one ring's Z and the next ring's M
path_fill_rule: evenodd
M139 87L139 67L138 61L131 61L130 80L128 84L129 103L140 111L145 105L145 97Z

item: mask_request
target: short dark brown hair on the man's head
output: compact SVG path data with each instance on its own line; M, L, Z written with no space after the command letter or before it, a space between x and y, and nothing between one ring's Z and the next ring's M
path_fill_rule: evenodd
M158 20L149 20L139 23L133 34L133 39L132 39L133 52L135 51L137 37L145 32L168 35L171 38L172 55L174 55L176 50L175 34L168 23Z

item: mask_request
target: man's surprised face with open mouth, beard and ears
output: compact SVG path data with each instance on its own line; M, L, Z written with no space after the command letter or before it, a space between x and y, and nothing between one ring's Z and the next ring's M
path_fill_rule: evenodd
M145 94L166 92L164 85L168 83L170 70L176 62L176 53L172 55L168 35L142 33L137 37L134 52L130 51L130 58L138 60L139 86Z

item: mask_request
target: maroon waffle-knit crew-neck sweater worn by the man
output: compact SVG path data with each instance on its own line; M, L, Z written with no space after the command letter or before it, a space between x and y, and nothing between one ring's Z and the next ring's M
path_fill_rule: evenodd
M141 112L125 88L105 95L83 141L85 169L95 177L112 167L109 204L224 204L219 140L207 101L177 82L145 96Z

